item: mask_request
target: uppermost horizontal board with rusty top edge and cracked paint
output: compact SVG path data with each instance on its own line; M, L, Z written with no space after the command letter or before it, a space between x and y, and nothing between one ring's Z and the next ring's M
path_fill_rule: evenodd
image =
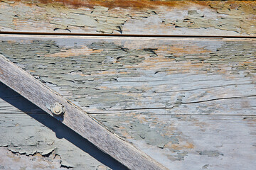
M256 35L255 1L2 0L0 31Z

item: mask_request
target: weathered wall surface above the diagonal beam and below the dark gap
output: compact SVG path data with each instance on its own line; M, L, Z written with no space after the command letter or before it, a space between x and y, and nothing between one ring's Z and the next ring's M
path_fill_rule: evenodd
M3 35L0 53L169 169L254 169L255 46Z

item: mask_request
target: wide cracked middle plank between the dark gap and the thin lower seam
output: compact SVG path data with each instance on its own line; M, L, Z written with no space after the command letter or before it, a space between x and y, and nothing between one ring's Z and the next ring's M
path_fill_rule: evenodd
M0 52L88 113L255 115L254 39L1 38Z

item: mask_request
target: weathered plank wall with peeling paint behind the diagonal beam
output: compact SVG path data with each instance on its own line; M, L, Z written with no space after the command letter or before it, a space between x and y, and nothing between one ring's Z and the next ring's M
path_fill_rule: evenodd
M169 169L255 169L255 9L255 1L2 0L0 33L251 38L1 34L0 54ZM0 89L0 169L123 169L71 131L75 140L58 137L61 124Z

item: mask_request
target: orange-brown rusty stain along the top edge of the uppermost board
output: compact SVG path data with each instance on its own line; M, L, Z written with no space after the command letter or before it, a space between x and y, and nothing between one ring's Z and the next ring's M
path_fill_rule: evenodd
M223 6L230 5L230 8L238 8L240 4L255 5L254 1L172 1L172 0L14 0L26 4L60 4L64 6L74 7L94 7L105 6L107 8L156 8L158 6L175 6L183 8L187 4L198 4L201 6L209 6L210 4L217 4Z

